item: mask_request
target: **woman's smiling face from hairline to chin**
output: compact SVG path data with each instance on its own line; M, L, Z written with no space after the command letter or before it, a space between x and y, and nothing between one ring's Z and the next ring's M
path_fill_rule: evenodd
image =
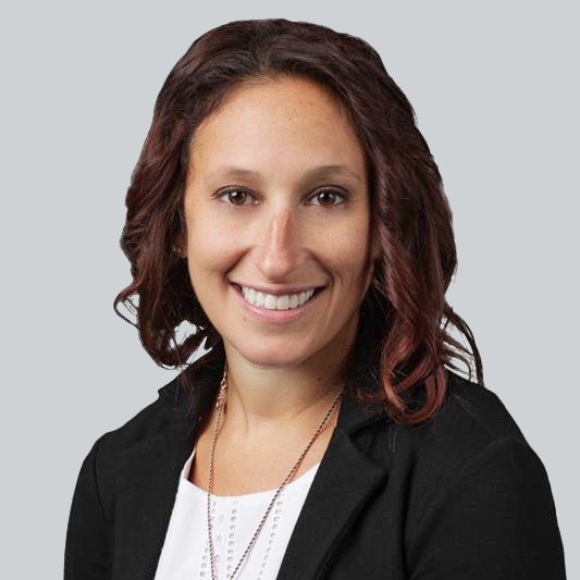
M371 282L370 210L334 97L297 77L238 87L196 132L184 203L192 285L226 353L344 357Z

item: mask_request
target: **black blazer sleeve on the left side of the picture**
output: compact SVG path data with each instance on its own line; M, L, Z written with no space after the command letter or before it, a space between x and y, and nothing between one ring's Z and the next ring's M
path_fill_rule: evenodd
M101 440L92 445L76 481L66 529L64 580L110 578L112 526L104 514L97 477Z

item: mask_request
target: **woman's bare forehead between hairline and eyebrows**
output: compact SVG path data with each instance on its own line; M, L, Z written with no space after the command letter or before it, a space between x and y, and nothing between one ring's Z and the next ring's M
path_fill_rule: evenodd
M365 171L365 152L337 97L308 79L283 77L237 87L197 128L192 170L235 165L345 165Z

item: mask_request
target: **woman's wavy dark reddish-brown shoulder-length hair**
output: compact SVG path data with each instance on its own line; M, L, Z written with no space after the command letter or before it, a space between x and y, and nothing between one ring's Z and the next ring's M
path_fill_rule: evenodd
M196 128L234 88L284 75L331 89L369 162L371 231L382 256L360 306L347 385L359 399L381 402L395 421L418 424L444 403L445 367L458 370L454 359L466 365L469 380L472 359L480 385L483 370L469 326L445 299L457 254L437 165L408 99L360 38L275 18L231 22L195 40L159 92L131 177L121 247L133 281L113 308L137 328L159 366L185 367L180 379L189 394L196 385L188 374L223 368L223 341L193 291L186 260L172 251L185 232L190 144ZM120 312L120 304L136 323ZM194 329L180 341L182 323ZM451 335L451 328L467 338L471 351ZM203 342L208 351L189 362ZM375 387L365 386L361 375L371 377Z

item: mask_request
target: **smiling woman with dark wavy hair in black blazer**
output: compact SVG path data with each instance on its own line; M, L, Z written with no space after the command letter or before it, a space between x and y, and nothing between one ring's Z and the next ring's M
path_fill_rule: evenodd
M115 309L185 370L83 462L66 579L565 578L544 467L445 300L437 166L369 45L207 33L126 205Z

